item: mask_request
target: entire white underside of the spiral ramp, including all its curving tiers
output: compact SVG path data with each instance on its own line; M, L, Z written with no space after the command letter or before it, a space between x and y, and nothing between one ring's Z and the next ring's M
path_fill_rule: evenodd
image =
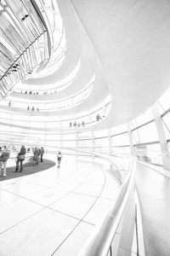
M24 95L14 100L36 102L65 99L81 91L95 74L94 89L79 106L50 113L72 115L91 108L111 94L111 111L93 129L105 129L134 119L149 108L170 82L170 2L167 0L58 0L66 38L65 60L42 78L23 81L23 90L65 79L80 61L80 68L65 90L53 95ZM8 99L8 98L7 98ZM1 109L8 107L1 106ZM39 129L39 128L38 128ZM86 129L86 128L84 128ZM92 129L92 128L87 128Z

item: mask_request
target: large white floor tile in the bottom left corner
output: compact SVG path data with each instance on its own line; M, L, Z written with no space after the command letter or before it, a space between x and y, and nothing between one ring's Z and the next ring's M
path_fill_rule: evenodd
M74 218L45 209L0 236L0 255L51 255L77 223Z

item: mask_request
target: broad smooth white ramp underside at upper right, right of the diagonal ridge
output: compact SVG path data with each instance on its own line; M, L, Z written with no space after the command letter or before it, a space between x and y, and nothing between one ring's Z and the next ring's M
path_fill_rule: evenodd
M135 118L169 86L170 2L70 2L99 55L111 90L111 115L105 125Z

